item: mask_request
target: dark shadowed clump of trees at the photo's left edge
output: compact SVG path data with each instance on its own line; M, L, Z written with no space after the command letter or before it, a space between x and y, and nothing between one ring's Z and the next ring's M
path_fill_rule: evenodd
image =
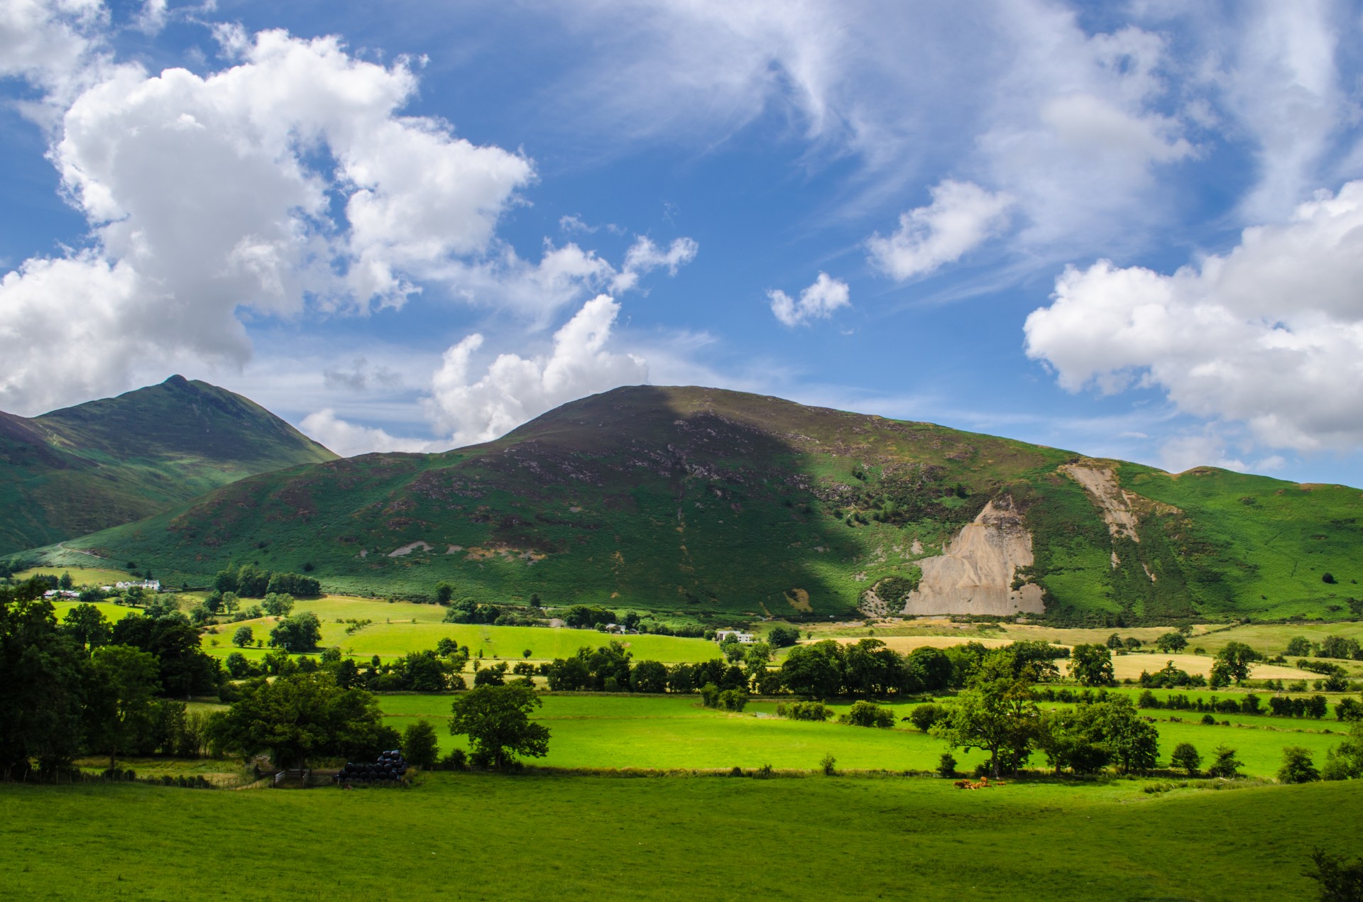
M214 658L177 615L109 624L93 605L59 623L46 583L0 586L0 777L53 773L80 753L192 753L202 722L165 696L217 692Z

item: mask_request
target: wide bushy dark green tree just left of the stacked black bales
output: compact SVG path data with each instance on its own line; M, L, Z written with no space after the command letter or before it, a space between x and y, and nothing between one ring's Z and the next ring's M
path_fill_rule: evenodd
M221 748L269 751L277 766L297 767L313 755L375 755L384 738L378 699L364 689L342 689L326 672L243 687L241 699L209 732Z

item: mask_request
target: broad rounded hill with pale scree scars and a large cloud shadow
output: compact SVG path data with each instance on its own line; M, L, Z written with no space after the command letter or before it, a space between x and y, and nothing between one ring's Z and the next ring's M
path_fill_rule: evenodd
M447 580L521 604L1116 625L1348 617L1360 518L1340 485L641 386L487 444L241 480L71 545L191 582L256 561L379 595Z

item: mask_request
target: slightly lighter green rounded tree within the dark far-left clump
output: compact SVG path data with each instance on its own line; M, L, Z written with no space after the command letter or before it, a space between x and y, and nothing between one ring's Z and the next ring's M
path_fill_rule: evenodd
M101 646L90 655L93 691L87 718L97 745L109 752L109 770L119 752L134 747L151 722L151 702L161 689L155 657L129 646Z

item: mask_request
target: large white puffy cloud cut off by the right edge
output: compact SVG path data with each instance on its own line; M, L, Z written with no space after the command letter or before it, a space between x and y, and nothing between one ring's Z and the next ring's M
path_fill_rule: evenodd
M1100 260L1056 279L1026 352L1065 388L1163 388L1269 447L1363 443L1363 181L1172 275ZM1183 455L1186 456L1186 455Z

